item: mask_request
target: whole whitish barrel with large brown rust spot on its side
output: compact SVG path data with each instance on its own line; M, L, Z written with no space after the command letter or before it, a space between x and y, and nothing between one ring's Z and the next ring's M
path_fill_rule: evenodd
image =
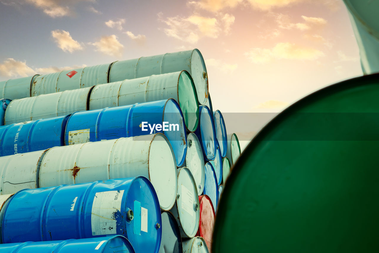
M175 203L177 170L174 152L163 134L87 142L51 148L42 159L41 187L145 176L161 209Z

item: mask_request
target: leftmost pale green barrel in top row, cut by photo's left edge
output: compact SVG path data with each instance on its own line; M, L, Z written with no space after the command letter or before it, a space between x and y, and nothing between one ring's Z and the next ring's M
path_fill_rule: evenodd
M33 75L30 77L22 77L17 79L9 79L7 81L0 82L0 99L19 99L24 97L30 97L30 88L33 80L39 75Z

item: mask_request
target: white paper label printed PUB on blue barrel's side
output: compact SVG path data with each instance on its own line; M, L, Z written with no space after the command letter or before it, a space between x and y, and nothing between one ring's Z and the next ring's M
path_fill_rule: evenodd
M97 192L92 203L92 236L116 234L117 212L121 217L121 201L124 190Z

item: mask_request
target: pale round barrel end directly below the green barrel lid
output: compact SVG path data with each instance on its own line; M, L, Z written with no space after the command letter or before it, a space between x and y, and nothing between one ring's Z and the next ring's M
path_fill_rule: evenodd
M198 195L202 195L205 181L204 158L201 144L196 134L187 135L187 153L185 165L195 180Z

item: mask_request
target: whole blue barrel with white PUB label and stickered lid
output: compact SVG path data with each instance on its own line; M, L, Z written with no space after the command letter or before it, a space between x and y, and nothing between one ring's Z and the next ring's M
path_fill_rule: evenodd
M21 190L1 212L3 243L116 234L137 252L158 252L161 243L157 194L143 176Z

